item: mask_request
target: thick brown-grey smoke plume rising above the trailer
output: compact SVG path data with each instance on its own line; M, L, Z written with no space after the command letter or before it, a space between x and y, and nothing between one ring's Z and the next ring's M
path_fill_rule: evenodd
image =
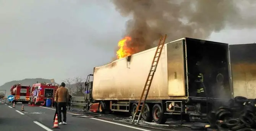
M221 31L226 26L256 27L256 16L246 18L241 13L241 8L237 6L237 2L241 3L241 0L112 0L112 2L122 16L132 17L126 23L125 36L132 38L128 46L135 47L133 53L155 46L153 42L163 34L167 34L167 40L182 37L207 39L212 32ZM243 3L253 5L256 2L243 0Z

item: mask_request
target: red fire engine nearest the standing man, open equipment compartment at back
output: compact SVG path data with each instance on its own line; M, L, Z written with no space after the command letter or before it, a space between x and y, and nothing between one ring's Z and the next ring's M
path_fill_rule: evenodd
M52 99L54 102L55 92L58 89L58 84L55 83L36 83L31 89L31 104L45 105L46 99Z

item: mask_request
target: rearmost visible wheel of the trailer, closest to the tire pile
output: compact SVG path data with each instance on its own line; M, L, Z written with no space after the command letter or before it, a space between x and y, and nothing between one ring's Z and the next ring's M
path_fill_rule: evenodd
M153 120L155 123L157 124L164 124L167 120L167 118L165 117L162 108L159 104L155 104L152 108L152 116L153 116Z

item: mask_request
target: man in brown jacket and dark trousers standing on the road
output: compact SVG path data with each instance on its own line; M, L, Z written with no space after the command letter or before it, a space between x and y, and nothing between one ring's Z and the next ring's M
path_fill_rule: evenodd
M69 99L69 93L68 89L65 88L65 83L62 82L60 84L60 87L57 89L55 93L55 101L57 102L57 108L58 108L58 123L59 125L66 125L66 105L68 103ZM62 115L63 113L63 121L62 121Z

